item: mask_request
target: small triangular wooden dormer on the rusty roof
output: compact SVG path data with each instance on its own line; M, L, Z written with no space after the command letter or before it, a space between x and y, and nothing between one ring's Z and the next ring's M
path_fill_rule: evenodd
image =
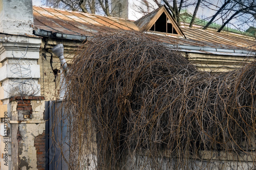
M136 20L135 24L141 32L153 31L174 36L183 36L185 38L185 35L166 6L162 6Z

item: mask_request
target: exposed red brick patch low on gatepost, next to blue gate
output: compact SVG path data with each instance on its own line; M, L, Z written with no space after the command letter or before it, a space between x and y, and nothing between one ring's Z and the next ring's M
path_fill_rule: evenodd
M41 135L35 137L34 147L36 149L37 169L43 170L46 166L45 131Z

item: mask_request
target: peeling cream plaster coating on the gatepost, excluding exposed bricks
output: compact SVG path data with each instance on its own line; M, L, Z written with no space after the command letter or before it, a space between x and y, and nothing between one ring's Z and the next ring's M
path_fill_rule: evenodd
M22 122L25 119L19 120L19 114L22 111L17 110L18 102L16 100L11 102L11 117L12 120L20 121L19 124L12 124L12 145L17 148L17 152L13 151L12 168L17 169L37 169L36 148L34 147L35 137L41 135L45 131L44 123L44 100L31 100L33 118L27 118L28 121L37 121L38 123ZM41 121L40 121L41 120ZM15 136L16 134L16 136ZM15 158L16 155L16 158ZM16 162L18 162L16 164Z

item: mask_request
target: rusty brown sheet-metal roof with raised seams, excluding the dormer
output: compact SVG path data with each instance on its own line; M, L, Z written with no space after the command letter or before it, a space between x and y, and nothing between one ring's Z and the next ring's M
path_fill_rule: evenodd
M34 33L39 36L83 40L104 33L140 30L135 21L123 18L36 6L33 7L33 14ZM231 33L217 33L199 28L180 29L186 38L154 31L146 31L146 33L152 39L166 44L178 44L188 50L201 49L201 51L216 52L246 50L256 52L256 42L251 37Z

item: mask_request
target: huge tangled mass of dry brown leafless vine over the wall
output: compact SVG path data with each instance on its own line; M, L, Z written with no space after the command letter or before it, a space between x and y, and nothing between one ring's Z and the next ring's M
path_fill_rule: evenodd
M93 38L66 76L72 169L254 169L256 63L197 71L146 35Z

